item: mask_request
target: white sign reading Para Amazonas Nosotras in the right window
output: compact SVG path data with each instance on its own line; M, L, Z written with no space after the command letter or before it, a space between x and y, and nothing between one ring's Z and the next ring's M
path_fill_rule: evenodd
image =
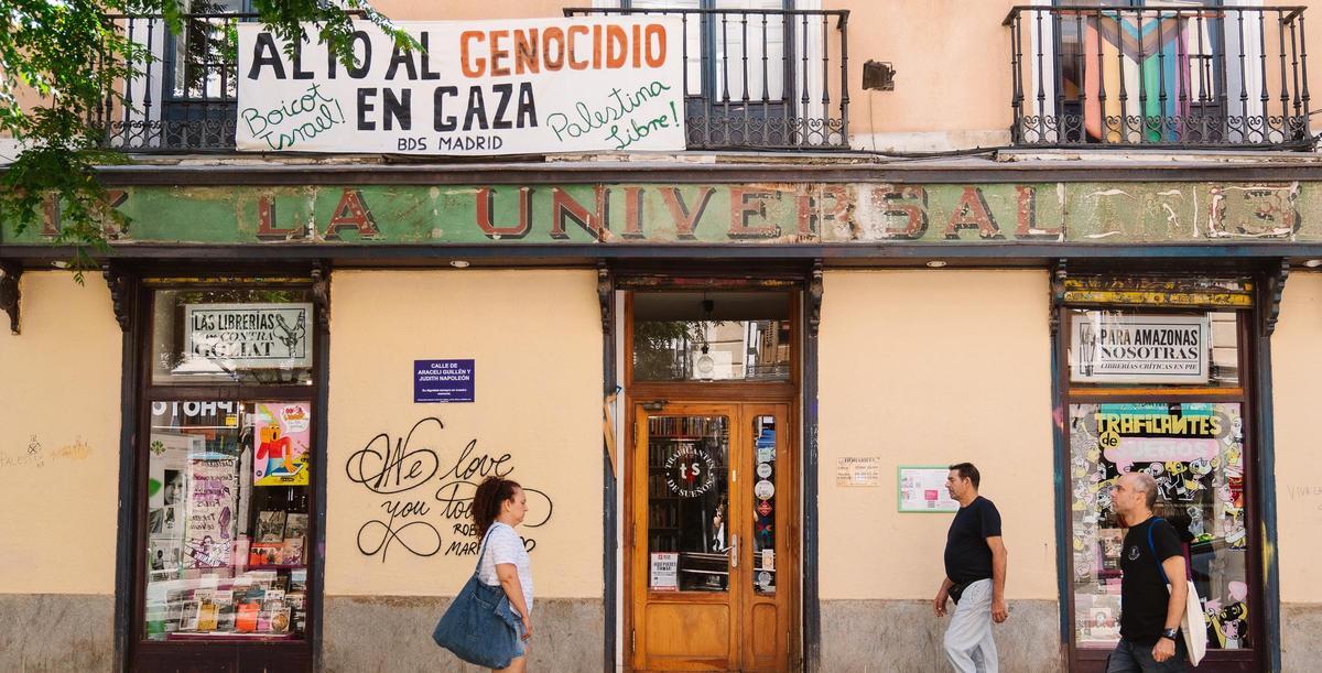
M1207 316L1116 316L1073 320L1069 379L1088 383L1206 383Z

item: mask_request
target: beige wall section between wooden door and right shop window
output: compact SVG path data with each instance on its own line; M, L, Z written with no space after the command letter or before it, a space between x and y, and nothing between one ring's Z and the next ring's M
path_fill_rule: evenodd
M929 599L952 514L896 512L896 468L970 460L1001 510L1007 598L1056 598L1044 271L832 271L820 341L821 596ZM880 456L880 487L836 485Z

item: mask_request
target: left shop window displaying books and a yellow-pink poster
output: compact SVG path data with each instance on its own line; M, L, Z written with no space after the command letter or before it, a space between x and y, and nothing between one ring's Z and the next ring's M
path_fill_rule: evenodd
M149 299L140 637L304 640L311 291L156 288Z

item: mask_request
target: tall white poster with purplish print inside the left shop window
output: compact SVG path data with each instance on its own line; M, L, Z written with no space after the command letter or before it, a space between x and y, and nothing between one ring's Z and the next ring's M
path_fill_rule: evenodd
M235 457L194 457L189 461L188 534L182 550L185 567L230 565L238 485Z

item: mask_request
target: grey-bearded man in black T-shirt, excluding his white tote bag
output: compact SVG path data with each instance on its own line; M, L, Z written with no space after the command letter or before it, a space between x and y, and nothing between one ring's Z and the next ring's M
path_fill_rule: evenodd
M1179 535L1165 520L1153 518L1157 481L1144 472L1116 480L1110 496L1116 513L1129 525L1120 557L1120 643L1107 673L1178 673L1185 670L1185 615L1188 584ZM1166 578L1170 578L1170 591Z

